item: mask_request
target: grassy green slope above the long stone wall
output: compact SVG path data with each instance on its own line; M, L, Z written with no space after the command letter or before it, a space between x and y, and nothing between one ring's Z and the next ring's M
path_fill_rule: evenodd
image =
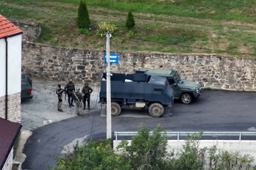
M3 0L0 13L41 23L38 42L50 45L104 49L96 35L97 24L110 21L118 27L111 50L230 53L255 55L256 1L87 0L91 35L78 34L79 0ZM125 27L128 10L135 27Z

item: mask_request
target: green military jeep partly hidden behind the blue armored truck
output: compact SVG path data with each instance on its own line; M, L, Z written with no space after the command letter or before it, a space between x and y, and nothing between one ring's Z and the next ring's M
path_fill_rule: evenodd
M174 98L180 99L182 103L187 105L190 104L193 99L198 98L202 93L200 84L182 80L176 70L141 68L137 72L166 77L171 88L174 90Z

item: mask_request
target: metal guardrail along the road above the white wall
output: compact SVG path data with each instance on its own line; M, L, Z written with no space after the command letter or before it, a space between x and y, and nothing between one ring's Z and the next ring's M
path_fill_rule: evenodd
M136 136L138 134L138 132L114 133L115 141L118 141L118 136ZM152 132L150 132L150 134L152 134ZM177 136L177 141L179 141L179 136L188 136L196 134L199 134L199 132L166 132L167 137ZM239 141L241 141L242 136L256 136L256 132L202 132L202 136L239 136Z

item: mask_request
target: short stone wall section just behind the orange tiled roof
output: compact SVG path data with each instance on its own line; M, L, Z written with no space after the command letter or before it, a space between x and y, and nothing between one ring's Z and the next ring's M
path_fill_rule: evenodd
M18 26L24 34L22 35L23 41L35 41L38 39L41 33L40 23L30 22L30 21L23 21L13 18L7 18L11 21L15 26Z

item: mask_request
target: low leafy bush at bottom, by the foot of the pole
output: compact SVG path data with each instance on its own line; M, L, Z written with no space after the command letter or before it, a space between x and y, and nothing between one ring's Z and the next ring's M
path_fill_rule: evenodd
M74 146L74 152L67 150L64 158L56 158L57 166L54 170L107 170L129 169L115 154L111 147L111 140L92 141L79 147Z

